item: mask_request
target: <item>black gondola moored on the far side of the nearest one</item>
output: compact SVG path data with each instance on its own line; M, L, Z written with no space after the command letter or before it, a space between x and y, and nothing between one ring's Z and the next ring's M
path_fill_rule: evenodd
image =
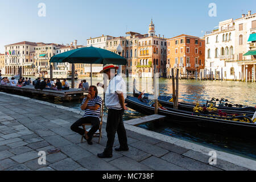
M142 92L139 92L139 90L136 89L136 80L134 79L133 82L133 96L134 97L139 97ZM153 98L154 96L148 93L143 94L143 98L148 99L148 98ZM159 96L158 97L158 102L163 105L164 107L170 107L174 108L174 103L170 102L172 96ZM209 102L210 104L211 102ZM208 103L207 103L208 104ZM185 110L185 111L193 111L193 107L196 105L185 103L185 102L179 102L178 109L180 110ZM239 107L240 106L240 107ZM255 107L246 107L241 105L238 105L238 107L233 107L230 105L227 106L215 106L217 109L222 110L225 113L244 113L244 114L254 114L256 111Z

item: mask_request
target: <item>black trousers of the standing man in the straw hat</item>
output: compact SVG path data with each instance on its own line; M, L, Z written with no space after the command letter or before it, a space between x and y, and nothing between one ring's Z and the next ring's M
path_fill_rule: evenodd
M108 137L108 142L106 144L106 148L104 151L106 154L112 154L112 148L113 148L116 132L118 135L120 147L128 148L125 126L123 126L123 112L124 112L123 109L108 110L108 120L106 123L106 133Z

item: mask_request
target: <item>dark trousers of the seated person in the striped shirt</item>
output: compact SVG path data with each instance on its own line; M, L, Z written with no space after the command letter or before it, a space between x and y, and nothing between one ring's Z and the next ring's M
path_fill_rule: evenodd
M80 135L84 135L85 131L84 131L84 129L81 129L80 126L82 126L82 124L87 124L87 123L92 124L92 128L90 129L90 131L87 134L89 137L89 140L91 140L93 137L93 134L100 128L100 119L99 118L97 118L97 117L80 118L75 123L73 123L73 125L71 125L70 128L72 131L75 131L76 133L79 133Z

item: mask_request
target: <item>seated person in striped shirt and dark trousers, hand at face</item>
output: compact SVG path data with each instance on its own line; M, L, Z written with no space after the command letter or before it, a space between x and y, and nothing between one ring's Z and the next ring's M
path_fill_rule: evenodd
M71 126L71 130L79 133L87 140L88 144L92 144L92 137L94 133L100 128L100 114L102 99L98 96L98 90L96 86L90 86L88 90L89 94L82 101L81 109L84 110L82 118L77 120ZM92 128L88 133L85 134L85 130L81 129L80 126L85 123L91 123Z

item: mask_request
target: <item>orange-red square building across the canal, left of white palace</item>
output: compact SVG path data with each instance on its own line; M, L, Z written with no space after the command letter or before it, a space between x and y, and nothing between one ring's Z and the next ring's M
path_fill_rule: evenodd
M196 36L181 34L167 40L167 68L179 68L181 77L204 71L205 40ZM198 75L199 77L199 75Z

